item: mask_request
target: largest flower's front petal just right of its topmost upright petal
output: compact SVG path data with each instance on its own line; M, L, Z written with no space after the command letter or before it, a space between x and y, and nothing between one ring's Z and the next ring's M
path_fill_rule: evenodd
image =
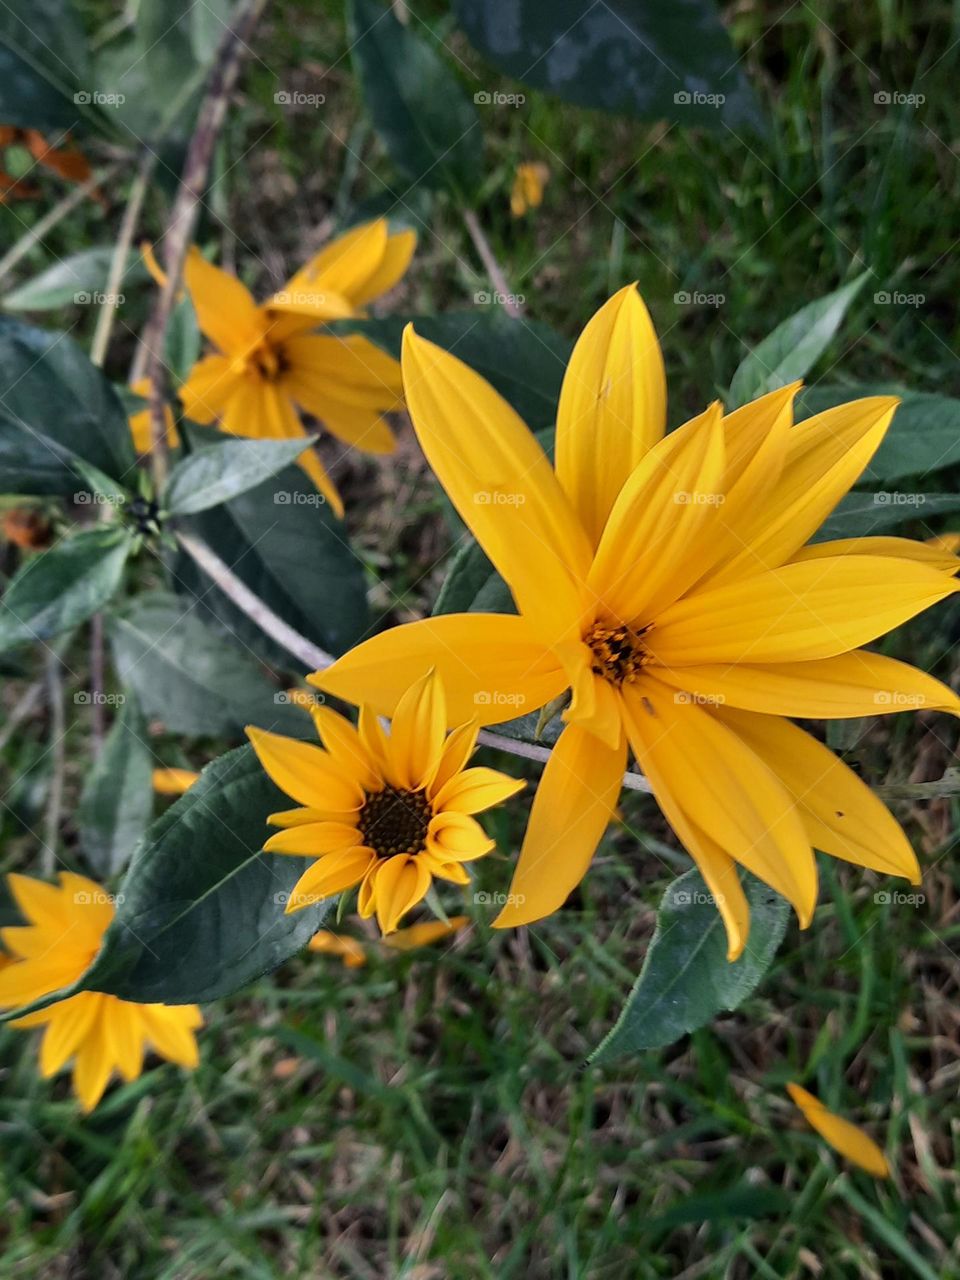
M719 404L650 449L617 498L590 568L590 588L618 622L655 617L701 572L701 532L721 518Z

